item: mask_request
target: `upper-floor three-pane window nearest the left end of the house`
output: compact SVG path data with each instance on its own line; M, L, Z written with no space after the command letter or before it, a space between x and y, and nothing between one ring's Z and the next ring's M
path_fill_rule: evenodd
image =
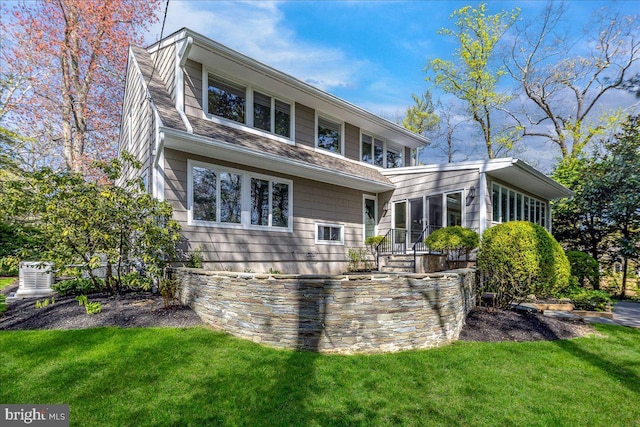
M291 138L291 103L213 74L207 81L207 114Z

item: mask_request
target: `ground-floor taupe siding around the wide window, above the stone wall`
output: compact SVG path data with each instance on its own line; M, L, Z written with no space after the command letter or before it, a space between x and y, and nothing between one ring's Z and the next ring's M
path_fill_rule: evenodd
M293 181L293 232L206 227L187 223L187 160L198 160ZM165 200L181 223L185 249L201 248L207 268L254 272L340 273L346 254L362 247L362 192L322 182L165 150ZM316 223L344 226L344 245L315 243Z

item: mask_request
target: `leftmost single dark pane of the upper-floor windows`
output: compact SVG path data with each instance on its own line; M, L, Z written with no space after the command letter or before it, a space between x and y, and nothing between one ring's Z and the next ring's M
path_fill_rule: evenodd
M245 122L246 88L216 76L209 76L207 108L209 114Z

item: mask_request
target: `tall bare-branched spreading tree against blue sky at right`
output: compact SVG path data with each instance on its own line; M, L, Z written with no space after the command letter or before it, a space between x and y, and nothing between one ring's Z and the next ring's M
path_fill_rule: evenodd
M560 33L565 9L549 3L542 16L516 35L508 69L532 108L514 114L525 137L543 137L563 160L578 158L589 142L622 120L601 109L605 95L630 88L640 59L637 16L606 9L594 16L584 38ZM572 23L573 24L573 23Z

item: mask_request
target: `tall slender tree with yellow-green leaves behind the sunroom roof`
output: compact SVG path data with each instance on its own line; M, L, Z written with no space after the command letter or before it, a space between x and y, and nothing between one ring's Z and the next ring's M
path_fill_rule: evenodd
M477 9L466 6L456 10L455 30L443 28L439 34L453 37L459 43L454 61L433 59L426 71L427 81L464 101L473 120L482 131L487 155L495 158L501 149L509 149L510 135L501 134L493 122L493 116L508 101L506 92L498 88L500 78L506 73L497 65L496 45L504 33L515 23L519 9L510 12L487 14L486 4Z

